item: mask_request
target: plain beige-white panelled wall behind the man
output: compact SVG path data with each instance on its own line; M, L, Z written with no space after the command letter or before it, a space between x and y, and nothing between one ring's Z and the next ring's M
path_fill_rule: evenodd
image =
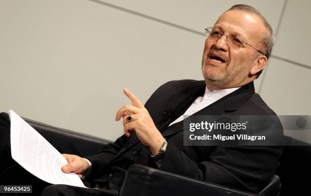
M115 140L122 88L145 102L167 81L201 80L204 28L240 3L276 35L256 91L278 115L311 115L307 0L0 0L0 111Z

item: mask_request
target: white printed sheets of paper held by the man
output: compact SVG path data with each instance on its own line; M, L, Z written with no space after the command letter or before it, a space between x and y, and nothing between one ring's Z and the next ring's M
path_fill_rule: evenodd
M11 154L25 170L51 184L67 184L84 187L77 174L66 174L61 167L68 162L32 126L9 111L11 120Z

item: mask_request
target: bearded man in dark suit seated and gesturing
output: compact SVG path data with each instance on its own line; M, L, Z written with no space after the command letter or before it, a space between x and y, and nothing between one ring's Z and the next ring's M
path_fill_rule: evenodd
M168 82L145 106L124 89L132 106L119 109L116 120L123 119L125 135L92 156L64 154L69 162L64 172L85 177L90 187L100 189L51 185L42 194L117 194L110 190L121 187L133 164L253 192L263 187L275 173L282 147L184 146L183 115L275 115L253 84L271 53L272 29L254 8L236 5L206 32L204 81ZM270 125L258 130L273 132L281 126L278 121Z

